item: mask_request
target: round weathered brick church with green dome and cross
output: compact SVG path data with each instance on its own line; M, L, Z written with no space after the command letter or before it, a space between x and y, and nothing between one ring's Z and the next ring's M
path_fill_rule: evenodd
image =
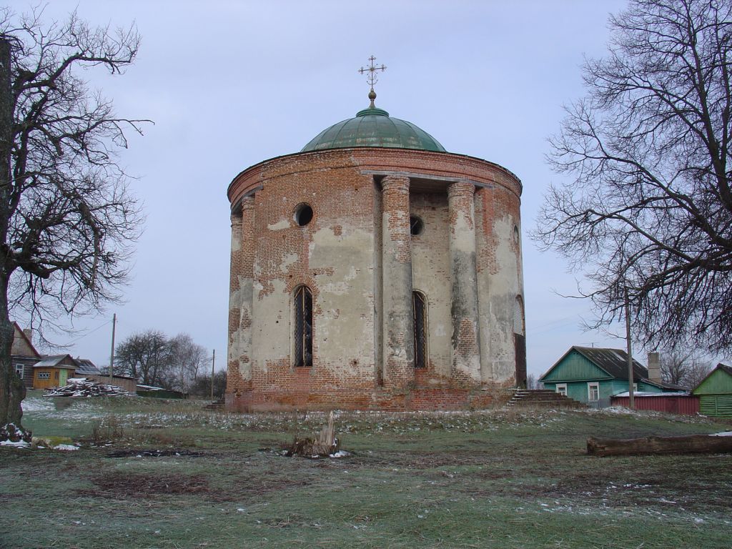
M229 410L482 408L526 383L520 181L369 97L228 187Z

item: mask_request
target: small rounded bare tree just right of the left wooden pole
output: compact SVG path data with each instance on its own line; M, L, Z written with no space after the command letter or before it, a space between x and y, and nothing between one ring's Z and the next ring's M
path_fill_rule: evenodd
M171 346L158 330L127 337L114 351L115 369L143 385L167 385L170 376Z

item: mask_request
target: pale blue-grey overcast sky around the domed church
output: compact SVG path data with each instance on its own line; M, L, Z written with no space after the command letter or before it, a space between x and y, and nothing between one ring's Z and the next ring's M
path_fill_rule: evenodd
M154 120L130 136L122 163L138 176L146 229L126 302L77 318L71 354L109 363L134 332L187 332L225 367L231 232L226 188L267 158L298 152L324 128L368 105L359 67L374 55L378 107L429 132L449 152L490 160L523 182L523 261L529 373L572 345L624 348L583 332L580 276L539 253L534 226L550 182L547 138L562 105L584 94L583 56L602 56L615 0L167 1L52 0L45 20L76 9L97 25L138 26L143 42L122 76L90 70L121 116ZM10 1L16 12L29 9ZM645 362L643 356L637 356Z

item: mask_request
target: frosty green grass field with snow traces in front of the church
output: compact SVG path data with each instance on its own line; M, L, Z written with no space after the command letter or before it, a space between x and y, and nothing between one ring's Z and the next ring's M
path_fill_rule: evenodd
M31 392L75 452L0 448L2 548L729 548L730 455L593 458L588 436L714 433L597 411L340 413L347 458L279 450L324 414Z

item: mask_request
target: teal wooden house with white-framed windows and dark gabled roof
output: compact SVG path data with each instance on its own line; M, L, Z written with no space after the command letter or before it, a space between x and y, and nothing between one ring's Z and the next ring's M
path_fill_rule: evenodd
M610 397L628 390L628 355L621 349L569 348L539 381L579 402L604 408ZM648 370L633 359L633 389L638 392L667 392L681 389L660 380L649 380Z

